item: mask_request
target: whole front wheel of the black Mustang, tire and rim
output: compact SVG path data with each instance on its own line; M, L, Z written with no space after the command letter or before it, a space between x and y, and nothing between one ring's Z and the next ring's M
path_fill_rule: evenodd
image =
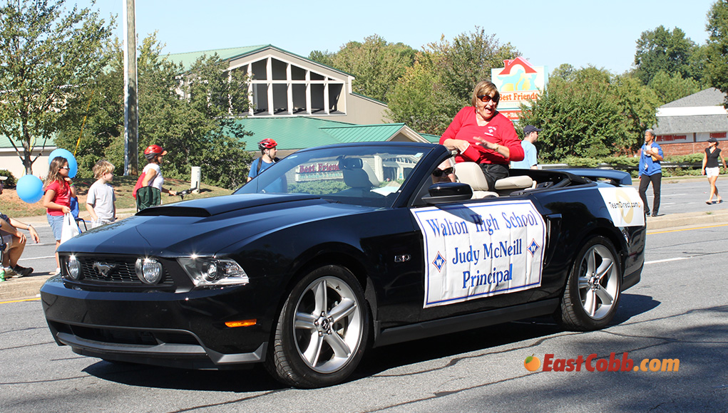
M266 369L298 388L339 384L359 364L369 324L357 278L337 265L317 268L290 291L275 326Z

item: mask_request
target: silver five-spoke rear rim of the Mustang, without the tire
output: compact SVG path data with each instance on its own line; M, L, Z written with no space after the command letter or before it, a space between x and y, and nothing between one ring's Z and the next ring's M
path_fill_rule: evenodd
M612 310L619 294L620 271L609 249L593 245L582 258L579 270L579 297L587 316L596 320Z

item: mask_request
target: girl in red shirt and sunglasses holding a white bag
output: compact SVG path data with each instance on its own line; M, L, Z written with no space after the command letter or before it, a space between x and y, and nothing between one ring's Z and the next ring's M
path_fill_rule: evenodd
M68 161L63 156L56 156L48 167L48 177L45 182L45 195L43 207L46 208L48 223L53 230L55 248L60 245L60 235L63 230L63 215L71 212L71 198L76 197L76 188L68 177ZM58 254L55 256L56 270L60 273Z

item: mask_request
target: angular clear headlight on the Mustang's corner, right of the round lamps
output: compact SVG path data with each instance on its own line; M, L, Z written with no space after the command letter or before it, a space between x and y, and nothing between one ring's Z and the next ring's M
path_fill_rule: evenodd
M177 259L195 286L248 284L250 279L234 260L215 257L185 257Z

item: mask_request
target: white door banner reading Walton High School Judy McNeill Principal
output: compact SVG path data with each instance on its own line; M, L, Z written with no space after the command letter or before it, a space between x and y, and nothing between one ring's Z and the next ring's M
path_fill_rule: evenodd
M545 223L531 201L413 209L424 238L424 308L541 285Z

